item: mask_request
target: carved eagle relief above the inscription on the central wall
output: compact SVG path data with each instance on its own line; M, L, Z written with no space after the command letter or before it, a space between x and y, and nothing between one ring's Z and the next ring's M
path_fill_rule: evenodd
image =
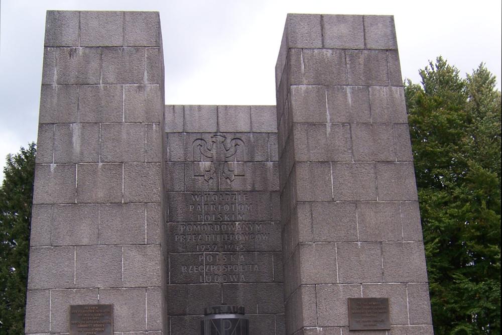
M198 169L194 164L194 176L203 176L207 183L217 180L218 174L228 183L234 181L235 176L244 175L236 164L243 161L244 141L241 139L229 140L223 134L214 134L209 142L201 138L194 140L192 148L194 163L199 162Z

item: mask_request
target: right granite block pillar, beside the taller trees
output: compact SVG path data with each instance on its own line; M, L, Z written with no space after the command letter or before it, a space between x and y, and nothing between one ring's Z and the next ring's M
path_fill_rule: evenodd
M286 333L346 334L367 297L371 334L432 334L393 17L288 15L276 83Z

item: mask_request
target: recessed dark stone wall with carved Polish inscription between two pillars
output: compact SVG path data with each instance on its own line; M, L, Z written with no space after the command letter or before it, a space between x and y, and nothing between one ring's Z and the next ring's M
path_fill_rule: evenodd
M167 314L245 308L250 333L284 333L275 106L166 105Z

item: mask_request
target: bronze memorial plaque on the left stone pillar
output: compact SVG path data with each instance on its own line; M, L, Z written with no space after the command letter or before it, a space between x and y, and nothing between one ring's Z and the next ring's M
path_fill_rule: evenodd
M113 305L70 305L70 335L112 335Z

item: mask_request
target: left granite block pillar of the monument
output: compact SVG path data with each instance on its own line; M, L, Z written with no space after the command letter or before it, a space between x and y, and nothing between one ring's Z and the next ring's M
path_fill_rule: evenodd
M158 13L47 12L27 334L97 303L166 333L161 41Z

